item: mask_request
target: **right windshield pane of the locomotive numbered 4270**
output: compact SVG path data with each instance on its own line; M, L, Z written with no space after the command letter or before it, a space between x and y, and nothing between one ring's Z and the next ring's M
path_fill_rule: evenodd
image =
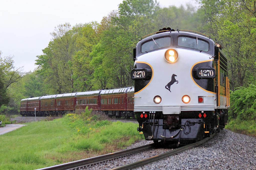
M194 48L202 51L208 51L209 50L209 44L206 41L200 40L197 37L178 37L178 46L180 47L188 47L188 48Z

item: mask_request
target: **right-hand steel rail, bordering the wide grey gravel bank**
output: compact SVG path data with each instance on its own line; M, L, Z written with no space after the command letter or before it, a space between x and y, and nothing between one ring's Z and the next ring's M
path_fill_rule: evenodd
M213 138L214 135L215 135L215 133L212 134L210 137L207 137L207 138L205 138L203 140L200 140L200 141L198 141L196 143L191 143L189 145L186 145L186 146L183 146L183 147L180 147L180 148L177 148L177 149L165 152L163 154L152 156L150 158L147 158L147 159L144 159L144 160L141 160L141 161L138 161L138 162L134 162L134 163L130 163L130 164L127 164L127 165L119 166L119 167L113 168L111 170L133 169L133 168L137 168L137 167L140 167L140 166L143 166L143 165L146 165L146 164L150 164L150 163L155 162L155 161L159 161L159 160L165 159L165 158L167 158L169 156L172 156L172 155L175 155L175 154L177 154L179 152L183 152L185 150L197 147L197 146L205 143L206 141L210 140L211 138Z

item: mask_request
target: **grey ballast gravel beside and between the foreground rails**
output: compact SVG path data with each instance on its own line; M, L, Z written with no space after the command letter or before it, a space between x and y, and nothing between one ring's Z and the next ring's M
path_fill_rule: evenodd
M139 141L126 149L152 143ZM80 169L111 169L169 151L152 149ZM206 143L163 160L136 168L141 169L256 169L256 138L223 129Z

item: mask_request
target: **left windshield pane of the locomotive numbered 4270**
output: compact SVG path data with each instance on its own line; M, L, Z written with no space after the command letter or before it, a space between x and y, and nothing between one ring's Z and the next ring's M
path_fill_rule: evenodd
M171 37L152 38L141 45L141 52L146 53L159 48L169 47L171 45Z

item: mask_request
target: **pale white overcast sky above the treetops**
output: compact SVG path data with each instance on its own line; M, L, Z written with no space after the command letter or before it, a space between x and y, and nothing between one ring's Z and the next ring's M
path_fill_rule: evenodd
M110 11L118 10L123 0L0 0L0 51L2 57L14 56L14 66L24 72L37 66L37 55L51 41L54 27L65 22L97 21ZM196 6L195 0L158 0L161 7L187 3ZM168 25L167 25L168 26Z

